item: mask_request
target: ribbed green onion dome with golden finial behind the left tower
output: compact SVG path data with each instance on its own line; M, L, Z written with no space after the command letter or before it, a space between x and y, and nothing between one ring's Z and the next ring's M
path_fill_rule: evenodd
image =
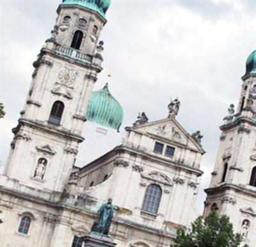
M118 130L123 121L123 109L109 93L108 83L92 93L89 100L86 120Z

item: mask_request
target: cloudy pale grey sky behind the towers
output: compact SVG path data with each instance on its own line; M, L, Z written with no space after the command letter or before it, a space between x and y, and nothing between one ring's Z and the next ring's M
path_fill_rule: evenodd
M61 0L1 0L1 165L17 125L33 72ZM124 125L138 112L150 120L168 115L170 97L182 102L177 120L200 130L205 151L203 188L211 179L223 116L237 105L245 61L255 49L256 1L113 0L102 32L104 71L95 90L109 88L124 108Z

